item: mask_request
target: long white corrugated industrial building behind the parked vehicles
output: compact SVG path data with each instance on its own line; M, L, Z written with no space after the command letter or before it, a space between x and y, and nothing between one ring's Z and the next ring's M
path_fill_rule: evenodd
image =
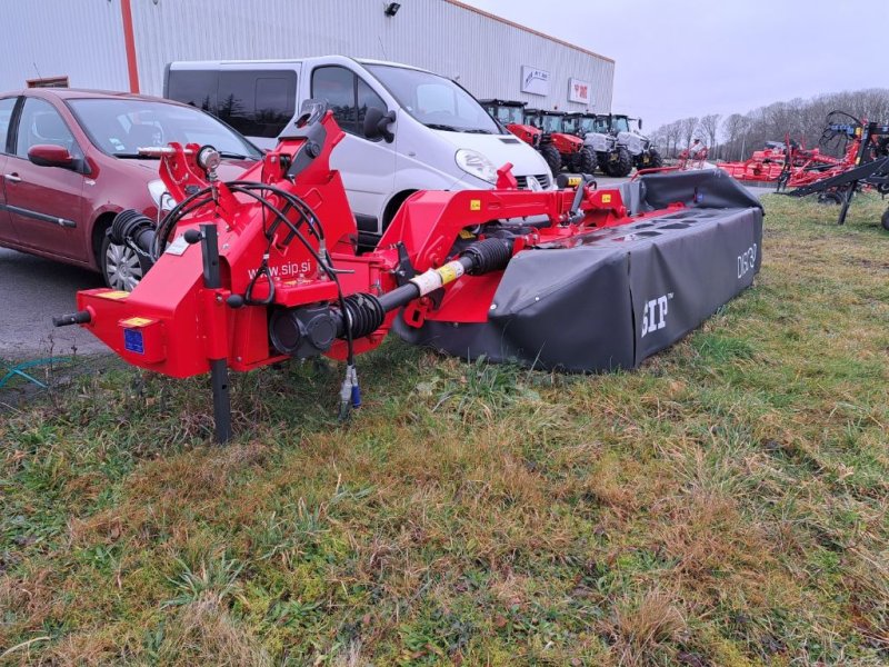
M0 17L0 91L160 96L174 60L339 53L421 67L477 98L611 109L613 60L457 0L36 0L4 2Z

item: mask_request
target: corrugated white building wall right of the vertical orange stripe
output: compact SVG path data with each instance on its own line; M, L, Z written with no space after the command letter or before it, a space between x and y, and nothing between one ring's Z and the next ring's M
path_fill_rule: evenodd
M103 0L104 1L104 0ZM612 60L522 30L448 0L132 0L141 90L161 94L172 60L276 59L340 53L422 67L478 98L583 110L568 79L592 84L596 111L611 108ZM550 72L547 97L520 92L521 66Z

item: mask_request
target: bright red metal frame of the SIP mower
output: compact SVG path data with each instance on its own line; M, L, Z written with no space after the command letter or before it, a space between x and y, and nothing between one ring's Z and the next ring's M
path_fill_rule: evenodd
M320 121L327 131L324 146L309 166L291 182L288 166L300 155L306 139L286 139L246 171L241 181L261 181L297 195L311 207L324 231L330 263L339 275L346 296L358 292L384 295L397 287L396 271L407 253L417 271L440 268L452 259L458 239L483 239L485 225L491 220L545 217L549 226L535 226L516 238L512 252L553 240L570 239L590 229L638 221L630 218L620 191L586 188L580 200L581 215L572 215L576 190L530 192L519 190L511 166L500 169L493 190L421 191L411 196L383 233L378 248L358 256L354 250L357 228L349 209L339 172L329 167L333 147L343 138L331 113ZM208 187L196 161L199 147L172 145L161 160L161 178L170 192L182 200L188 191ZM283 198L269 200L284 209ZM677 205L681 206L681 205ZM675 208L675 207L673 207ZM657 218L672 209L649 213ZM336 305L334 282L321 271L304 245L290 239L283 226L267 240L267 210L249 197L218 183L213 201L186 216L170 239L176 239L157 260L137 288L130 292L108 289L78 293L78 307L89 312L82 325L130 364L174 377L188 377L210 370L211 360L226 359L234 370L249 370L273 364L284 357L269 339L269 312L272 308L293 308L310 303ZM296 211L289 213L299 223ZM221 283L204 287L200 243L183 242L189 229L214 225L218 231ZM314 237L306 235L316 252L322 251ZM233 308L227 300L243 295L252 272L263 255L274 285L269 306ZM443 297L426 297L411 302L406 312L409 325L424 319L481 322L488 317L501 271L456 279L443 288ZM269 280L257 282L254 297L269 295ZM354 341L354 351L370 350L387 335L396 311L383 325ZM138 332L138 346L128 344ZM128 338L129 337L129 338ZM343 358L346 344L338 341L328 352Z

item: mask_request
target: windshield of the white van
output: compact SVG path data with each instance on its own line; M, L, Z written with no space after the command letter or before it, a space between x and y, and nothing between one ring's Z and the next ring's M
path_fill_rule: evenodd
M367 69L413 118L433 130L500 135L500 128L471 94L443 77L388 64Z

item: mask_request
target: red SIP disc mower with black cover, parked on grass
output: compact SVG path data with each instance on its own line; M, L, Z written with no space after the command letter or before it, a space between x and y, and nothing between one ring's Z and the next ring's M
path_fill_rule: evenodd
M369 109L366 128L387 122ZM361 402L356 357L393 330L473 359L573 372L633 368L748 287L762 209L722 172L645 177L599 190L420 191L379 246L358 230L331 150L344 137L311 106L241 178L212 147L141 149L179 202L111 235L152 263L132 292L78 292L80 325L129 364L209 372L216 437L231 435L229 370L326 355L343 360L341 416Z

